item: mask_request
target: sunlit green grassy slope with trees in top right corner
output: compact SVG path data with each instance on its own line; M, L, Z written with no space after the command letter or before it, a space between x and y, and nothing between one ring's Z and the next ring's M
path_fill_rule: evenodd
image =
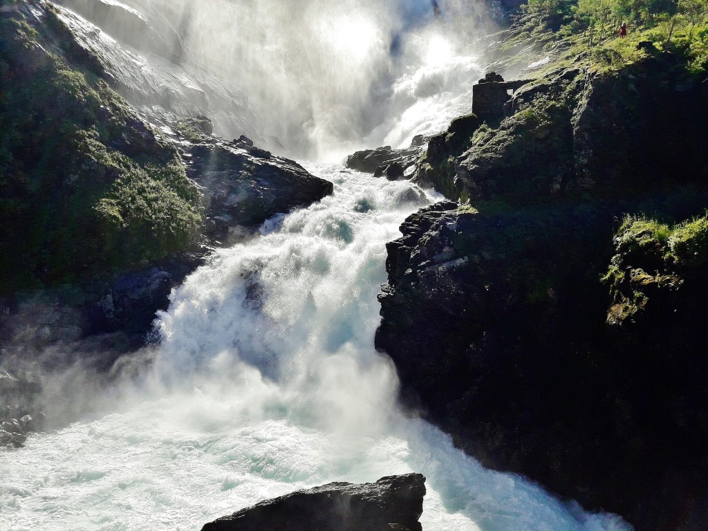
M685 64L680 75L702 81L708 75L708 2L666 0L654 2L653 11L641 8L647 4L530 0L496 49L506 54L499 64L513 71L539 62L529 73L542 78L568 67L614 72L668 53ZM617 33L622 21L629 25L626 38ZM650 44L639 48L640 42Z

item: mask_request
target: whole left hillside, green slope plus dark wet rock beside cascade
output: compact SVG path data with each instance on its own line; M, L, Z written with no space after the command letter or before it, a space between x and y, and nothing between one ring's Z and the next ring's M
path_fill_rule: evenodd
M183 116L177 104L156 110L160 127L149 125L109 86L126 92L106 66L115 41L50 2L5 4L0 367L22 367L28 382L39 382L35 370L74 365L110 378L122 355L150 341L156 312L210 249L253 236L265 219L320 200L333 185L245 136L215 136L210 118L192 108ZM64 4L118 38L136 30L145 50L171 53L130 8ZM14 444L28 426L41 427L41 408L12 389L0 394L15 412L0 422L13 423ZM28 413L33 423L21 421Z

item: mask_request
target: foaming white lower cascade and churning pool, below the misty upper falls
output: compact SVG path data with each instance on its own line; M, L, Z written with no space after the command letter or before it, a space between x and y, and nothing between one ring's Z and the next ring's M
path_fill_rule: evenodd
M334 194L191 275L148 375L104 413L0 452L0 530L199 530L303 487L411 471L427 477L427 531L628 530L483 469L396 409L376 294L385 242L430 196L307 167Z

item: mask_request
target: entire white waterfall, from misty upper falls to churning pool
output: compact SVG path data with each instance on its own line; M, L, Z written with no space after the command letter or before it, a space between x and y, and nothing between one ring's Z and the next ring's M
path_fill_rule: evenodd
M469 109L479 73L459 47L469 19L443 26L427 0L125 4L159 16L187 55L179 70L123 54L76 19L87 45L115 61L117 79L163 79L174 94L189 76L195 93L239 81L260 113L254 127L300 154L436 132ZM448 13L472 5L440 4ZM197 79L204 72L211 77ZM222 103L236 98L227 96ZM212 110L217 132L232 132L236 115ZM305 486L410 471L427 477L426 530L627 530L484 470L396 408L394 367L373 348L384 244L433 195L338 165L307 167L335 193L271 219L261 237L191 275L159 316L147 374L105 390L101 413L0 452L0 530L198 530Z

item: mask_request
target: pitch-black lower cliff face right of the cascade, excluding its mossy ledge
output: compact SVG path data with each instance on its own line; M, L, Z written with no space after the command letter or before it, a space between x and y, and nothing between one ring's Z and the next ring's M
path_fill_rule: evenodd
M387 245L375 344L404 404L486 466L638 530L678 518L700 530L708 345L695 331L708 290L695 273L678 291L639 278L650 304L636 324L608 325L598 279L613 208L484 215L448 202L412 215ZM646 264L634 256L627 277Z

